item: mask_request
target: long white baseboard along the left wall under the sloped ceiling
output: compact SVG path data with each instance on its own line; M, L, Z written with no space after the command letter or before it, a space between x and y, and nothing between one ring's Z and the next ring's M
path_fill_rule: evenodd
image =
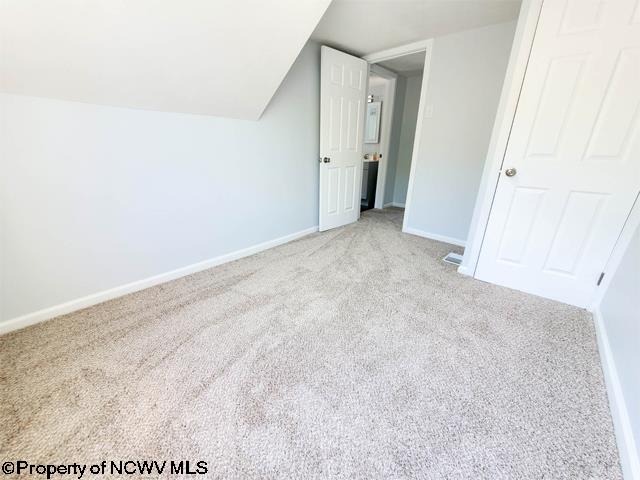
M307 228L305 230L292 233L290 235L285 235L284 237L275 238L267 242L259 243L257 245L252 245L251 247L243 248L241 250L236 250L235 252L227 253L225 255L220 255L218 257L210 258L208 260L203 260L202 262L193 263L191 265L187 265L186 267L181 267L175 270L171 270L169 272L160 273L152 277L144 278L142 280L137 280L135 282L127 283L125 285L120 285L118 287L110 288L109 290L103 290L102 292L92 293L91 295L87 295L86 297L77 298L75 300L61 303L53 307L38 310L33 313L28 313L20 317L12 318L5 322L0 322L0 335L2 335L3 333L8 333L14 330L19 330L21 328L28 327L29 325L34 325L36 323L44 322L45 320L50 320L54 317L65 315L67 313L71 313L76 310L80 310L82 308L87 308L92 305L96 305L98 303L106 302L107 300L121 297L128 293L144 290L145 288L153 287L155 285L159 285L161 283L165 283L170 280L175 280L176 278L180 278L186 275L190 275L192 273L200 272L202 270L206 270L208 268L212 268L217 265L222 265L223 263L232 262L234 260L238 260L243 257L248 257L249 255L262 252L263 250L268 250L269 248L277 247L278 245L291 242L293 240L296 240L298 238L304 237L306 235L309 235L317 231L318 231L317 226Z

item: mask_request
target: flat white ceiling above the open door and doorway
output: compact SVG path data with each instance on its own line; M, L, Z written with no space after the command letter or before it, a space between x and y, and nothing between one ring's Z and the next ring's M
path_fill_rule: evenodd
M520 0L333 0L312 38L354 55L514 20Z

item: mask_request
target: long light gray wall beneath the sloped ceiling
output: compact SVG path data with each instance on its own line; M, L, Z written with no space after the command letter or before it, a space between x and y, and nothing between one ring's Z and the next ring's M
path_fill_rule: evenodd
M257 122L0 97L0 320L317 225L319 62Z

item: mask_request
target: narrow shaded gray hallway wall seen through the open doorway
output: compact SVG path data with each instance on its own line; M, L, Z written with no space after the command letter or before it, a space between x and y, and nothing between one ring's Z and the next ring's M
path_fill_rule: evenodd
M421 88L422 74L407 77L407 87L402 109L402 126L398 145L398 161L393 189L393 201L395 203L405 203L407 200L407 186L409 185L411 155L413 154L413 143L416 136Z

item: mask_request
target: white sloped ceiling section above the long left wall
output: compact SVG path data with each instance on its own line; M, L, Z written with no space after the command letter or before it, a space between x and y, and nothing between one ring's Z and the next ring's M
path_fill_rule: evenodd
M255 120L330 0L0 0L0 90Z

